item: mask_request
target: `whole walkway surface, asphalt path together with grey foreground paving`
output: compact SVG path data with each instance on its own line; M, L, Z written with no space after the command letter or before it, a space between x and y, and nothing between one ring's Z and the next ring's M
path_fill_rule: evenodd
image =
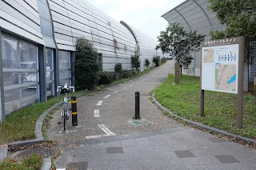
M78 98L78 127L66 132L54 113L47 132L59 140L58 168L256 169L256 151L178 125L163 116L149 93L174 73L174 62L106 91ZM134 121L134 93L141 93L142 121Z

